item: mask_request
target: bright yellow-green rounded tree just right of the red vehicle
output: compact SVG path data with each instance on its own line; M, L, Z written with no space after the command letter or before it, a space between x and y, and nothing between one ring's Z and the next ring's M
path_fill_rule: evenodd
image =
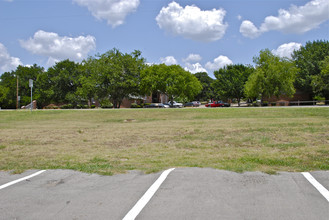
M264 98L280 95L292 96L295 93L294 81L297 68L294 63L275 56L268 49L254 57L256 69L248 78L245 93L248 98Z

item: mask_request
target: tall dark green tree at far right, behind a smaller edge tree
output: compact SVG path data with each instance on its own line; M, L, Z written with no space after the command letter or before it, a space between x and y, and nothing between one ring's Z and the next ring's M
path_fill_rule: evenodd
M292 58L299 69L295 87L310 94L310 99L323 93L318 89L319 87L312 85L312 81L314 76L320 75L321 62L327 56L329 56L329 41L326 40L309 41L292 54Z

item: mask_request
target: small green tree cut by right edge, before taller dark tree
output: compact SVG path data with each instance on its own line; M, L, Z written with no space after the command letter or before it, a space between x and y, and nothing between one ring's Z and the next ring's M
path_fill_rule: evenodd
M321 72L312 76L312 88L315 94L323 96L329 104L329 56L320 63Z

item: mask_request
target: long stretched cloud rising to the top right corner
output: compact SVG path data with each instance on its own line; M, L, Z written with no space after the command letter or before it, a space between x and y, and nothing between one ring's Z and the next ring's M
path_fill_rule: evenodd
M249 38L258 37L262 33L273 30L302 34L329 20L328 8L328 0L312 0L300 7L292 5L289 10L280 9L276 17L266 17L259 28L251 21L243 21L240 32Z

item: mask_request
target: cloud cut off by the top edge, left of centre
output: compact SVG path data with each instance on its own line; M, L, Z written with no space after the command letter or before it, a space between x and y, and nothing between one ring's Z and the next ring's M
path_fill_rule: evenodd
M124 23L128 14L136 11L140 0L73 0L85 6L99 20L106 20L112 27Z

